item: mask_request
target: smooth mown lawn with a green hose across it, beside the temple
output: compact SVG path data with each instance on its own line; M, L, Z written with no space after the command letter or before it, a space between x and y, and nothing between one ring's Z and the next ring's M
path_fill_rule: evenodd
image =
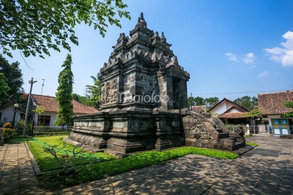
M48 136L48 137L34 137L34 139L38 142L46 143L49 145L59 145L59 148L63 147L63 140L62 138L65 136ZM57 170L60 169L60 165L57 163L57 160L55 159L54 156L52 156L49 153L42 153L43 152L43 146L41 143L37 143L33 140L28 140L28 146L32 152L32 154L35 157L35 160L37 161L40 170L42 172L47 172L47 171L52 171L52 170ZM67 144L70 149L73 148L72 145ZM66 155L65 153L59 153L60 155ZM80 157L79 159L75 160L76 165L81 165L81 164L88 164L91 162L101 162L101 157L104 158L103 161L105 160L112 160L116 159L113 156L109 156L105 153L85 153L87 155L92 155L92 156L84 156L86 158ZM70 156L70 154L69 154ZM93 157L94 156L94 157ZM70 159L70 157L69 157ZM63 159L64 160L64 159Z

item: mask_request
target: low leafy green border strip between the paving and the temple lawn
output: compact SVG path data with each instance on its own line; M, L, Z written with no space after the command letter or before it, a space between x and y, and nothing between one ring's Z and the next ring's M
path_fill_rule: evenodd
M216 151L196 147L181 147L162 152L149 151L128 156L122 159L115 159L103 163L92 164L90 166L90 171L87 169L80 170L73 177L56 177L56 173L45 174L41 176L40 180L48 188L55 188L57 186L66 187L68 185L76 185L91 180L117 175L120 173L143 168L152 164L156 164L159 162L163 162L166 160L170 160L173 158L189 154L197 154L226 159L235 159L238 157L238 155L236 154L225 151Z

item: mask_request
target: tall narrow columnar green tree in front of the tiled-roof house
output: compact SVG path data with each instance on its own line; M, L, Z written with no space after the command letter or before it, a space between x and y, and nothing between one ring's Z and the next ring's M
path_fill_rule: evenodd
M66 56L62 67L64 69L60 72L58 77L59 86L57 88L56 100L58 102L56 126L71 125L73 116L72 100L72 87L73 87L73 74L71 72L72 59L71 55Z

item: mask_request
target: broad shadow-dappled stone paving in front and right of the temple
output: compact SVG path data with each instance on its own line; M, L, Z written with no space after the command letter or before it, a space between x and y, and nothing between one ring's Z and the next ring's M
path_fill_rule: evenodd
M63 190L65 195L281 195L293 194L293 140L249 137L258 149L235 160L188 155ZM270 144L268 144L270 143ZM270 155L270 154L269 154ZM93 185L98 182L98 185Z

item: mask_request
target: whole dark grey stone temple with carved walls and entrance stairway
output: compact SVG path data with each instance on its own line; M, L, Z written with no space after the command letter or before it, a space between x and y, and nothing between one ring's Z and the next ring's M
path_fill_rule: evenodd
M244 137L230 133L217 117L187 108L189 74L164 33L147 28L143 13L129 35L119 35L100 70L100 111L74 117L66 141L119 157L184 145L223 150L245 145Z

